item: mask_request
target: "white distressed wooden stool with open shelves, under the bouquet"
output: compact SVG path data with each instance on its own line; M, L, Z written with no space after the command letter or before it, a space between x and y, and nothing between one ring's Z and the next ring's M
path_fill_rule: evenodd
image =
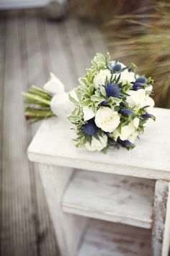
M170 110L153 114L135 149L106 155L75 148L60 118L38 130L28 155L40 164L61 255L168 255Z

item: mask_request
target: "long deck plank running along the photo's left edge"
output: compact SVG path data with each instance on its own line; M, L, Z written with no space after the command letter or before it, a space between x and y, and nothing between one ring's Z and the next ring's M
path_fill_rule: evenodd
M27 132L23 118L22 69L17 12L7 12L2 155L1 255L37 255L32 221Z

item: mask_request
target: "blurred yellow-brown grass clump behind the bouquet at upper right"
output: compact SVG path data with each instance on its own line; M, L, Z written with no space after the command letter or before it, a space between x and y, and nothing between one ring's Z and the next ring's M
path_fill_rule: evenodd
M115 15L106 27L113 56L135 62L140 74L152 76L156 106L170 108L170 3Z

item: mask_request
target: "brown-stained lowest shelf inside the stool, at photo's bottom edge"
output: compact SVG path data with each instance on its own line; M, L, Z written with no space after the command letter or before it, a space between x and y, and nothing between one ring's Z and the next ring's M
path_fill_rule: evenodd
M151 232L147 229L91 220L78 256L144 256L150 254Z

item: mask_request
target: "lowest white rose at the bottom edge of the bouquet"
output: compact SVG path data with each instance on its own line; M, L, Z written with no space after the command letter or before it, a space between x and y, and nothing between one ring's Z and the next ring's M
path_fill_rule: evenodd
M86 142L85 146L86 146L86 149L90 151L95 151L95 150L101 151L107 146L107 135L100 136L99 140L97 140L93 136L91 140L91 144L89 142Z

